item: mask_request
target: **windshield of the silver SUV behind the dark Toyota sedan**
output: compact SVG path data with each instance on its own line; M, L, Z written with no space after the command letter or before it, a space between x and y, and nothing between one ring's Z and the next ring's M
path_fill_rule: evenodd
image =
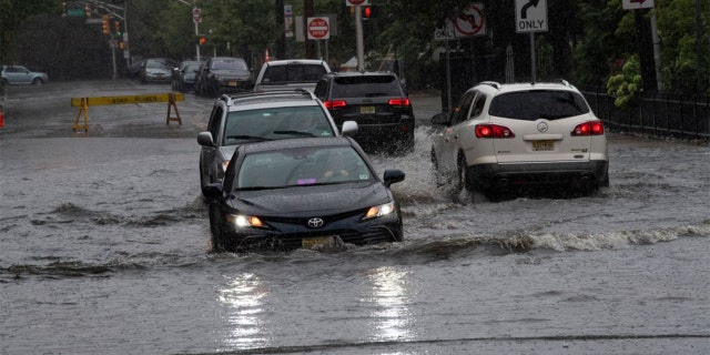
M334 135L321 106L282 106L230 112L224 126L223 144Z

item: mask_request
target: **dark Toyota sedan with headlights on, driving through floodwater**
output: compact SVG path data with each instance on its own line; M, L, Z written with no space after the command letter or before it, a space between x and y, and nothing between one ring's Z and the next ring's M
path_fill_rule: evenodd
M351 138L306 138L244 144L223 183L209 184L215 251L323 250L402 241L402 215Z

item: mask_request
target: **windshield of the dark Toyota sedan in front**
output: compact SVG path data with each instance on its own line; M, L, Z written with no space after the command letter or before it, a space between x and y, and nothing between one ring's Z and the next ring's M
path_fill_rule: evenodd
M308 146L244 156L236 190L264 190L373 181L352 146Z

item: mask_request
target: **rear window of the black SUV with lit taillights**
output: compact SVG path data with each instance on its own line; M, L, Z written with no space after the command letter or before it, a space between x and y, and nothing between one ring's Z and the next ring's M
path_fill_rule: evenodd
M399 84L393 75L335 78L334 98L402 97Z

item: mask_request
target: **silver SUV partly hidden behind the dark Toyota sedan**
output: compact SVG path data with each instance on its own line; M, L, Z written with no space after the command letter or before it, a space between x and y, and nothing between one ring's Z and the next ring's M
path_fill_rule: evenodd
M345 122L342 130L306 90L222 95L214 102L207 131L197 134L200 185L224 176L226 165L240 144L304 136L337 136L357 133L357 123Z

